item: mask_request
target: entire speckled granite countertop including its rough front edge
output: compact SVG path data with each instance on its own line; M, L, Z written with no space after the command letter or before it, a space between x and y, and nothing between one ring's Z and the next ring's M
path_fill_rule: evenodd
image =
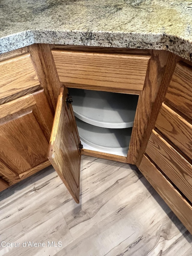
M192 61L192 0L1 0L0 53L34 43L161 49Z

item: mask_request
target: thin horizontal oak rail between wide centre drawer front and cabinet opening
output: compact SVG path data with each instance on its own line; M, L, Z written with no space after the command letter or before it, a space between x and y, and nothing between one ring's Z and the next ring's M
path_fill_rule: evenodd
M125 88L114 88L114 87L106 87L106 86L96 86L96 85L87 85L80 83L64 83L67 88L77 88L77 89L86 89L86 90L94 90L94 91L104 91L104 92L117 92L117 93L127 93L139 95L139 91L129 90Z

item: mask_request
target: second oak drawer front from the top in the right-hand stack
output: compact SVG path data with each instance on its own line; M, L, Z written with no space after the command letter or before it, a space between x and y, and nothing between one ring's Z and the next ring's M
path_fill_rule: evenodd
M192 124L163 103L155 127L192 160Z

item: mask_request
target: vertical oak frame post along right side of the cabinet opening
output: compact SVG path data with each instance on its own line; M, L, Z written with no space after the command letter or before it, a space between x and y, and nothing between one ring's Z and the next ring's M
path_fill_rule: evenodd
M164 51L151 51L144 90L140 92L134 125L129 144L127 163L139 163L140 155L144 153L145 141L149 140L153 108L158 91L161 88L169 54ZM149 133L150 131L150 133Z

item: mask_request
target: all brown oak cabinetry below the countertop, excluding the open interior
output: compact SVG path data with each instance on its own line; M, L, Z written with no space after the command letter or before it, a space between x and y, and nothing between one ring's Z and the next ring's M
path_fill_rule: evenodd
M0 190L50 160L78 203L81 153L136 164L192 232L191 65L165 51L46 44L0 57ZM66 87L139 95L127 157L81 149Z

